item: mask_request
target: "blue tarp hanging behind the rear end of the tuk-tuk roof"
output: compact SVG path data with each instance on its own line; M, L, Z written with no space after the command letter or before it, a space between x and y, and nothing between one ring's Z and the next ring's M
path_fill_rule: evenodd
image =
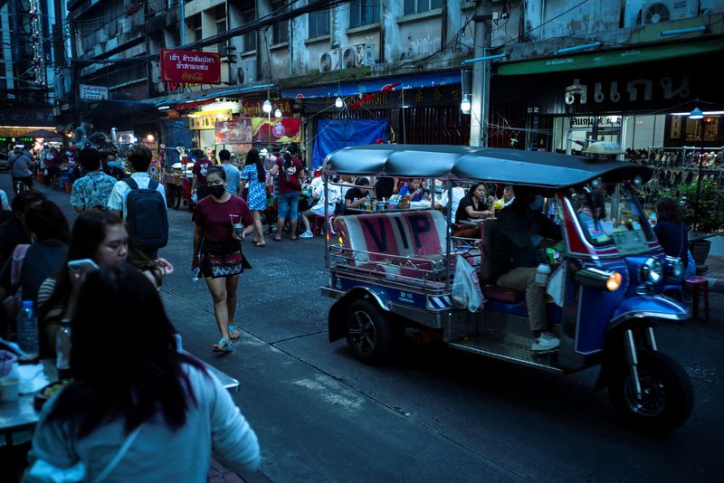
M319 119L312 166L322 166L329 153L348 146L375 144L387 138L387 119Z

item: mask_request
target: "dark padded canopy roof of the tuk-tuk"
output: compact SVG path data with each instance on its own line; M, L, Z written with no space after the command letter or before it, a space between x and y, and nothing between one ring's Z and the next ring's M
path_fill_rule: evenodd
M567 156L499 147L370 145L345 147L325 158L324 172L338 175L435 177L506 185L561 188L601 177L647 182L646 166L605 158Z

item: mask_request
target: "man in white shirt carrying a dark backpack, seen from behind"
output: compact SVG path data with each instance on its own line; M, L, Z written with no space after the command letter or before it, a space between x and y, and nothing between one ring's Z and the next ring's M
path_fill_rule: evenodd
M166 189L148 175L151 151L142 145L126 150L131 175L113 186L108 208L122 214L132 242L150 260L168 242Z

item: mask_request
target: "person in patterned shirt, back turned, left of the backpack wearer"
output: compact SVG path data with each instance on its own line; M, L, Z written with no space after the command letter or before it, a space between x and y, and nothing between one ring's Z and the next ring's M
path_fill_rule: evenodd
M100 165L100 151L95 147L84 147L79 155L86 175L77 179L71 189L71 206L76 212L105 210L110 192L116 185L116 178L103 173Z

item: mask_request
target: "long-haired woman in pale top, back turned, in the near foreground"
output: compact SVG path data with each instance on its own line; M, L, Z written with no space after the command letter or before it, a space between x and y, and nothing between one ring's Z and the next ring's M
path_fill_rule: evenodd
M256 435L213 374L176 347L153 284L93 270L71 320L73 380L45 404L24 480L205 482L212 453L259 467Z

